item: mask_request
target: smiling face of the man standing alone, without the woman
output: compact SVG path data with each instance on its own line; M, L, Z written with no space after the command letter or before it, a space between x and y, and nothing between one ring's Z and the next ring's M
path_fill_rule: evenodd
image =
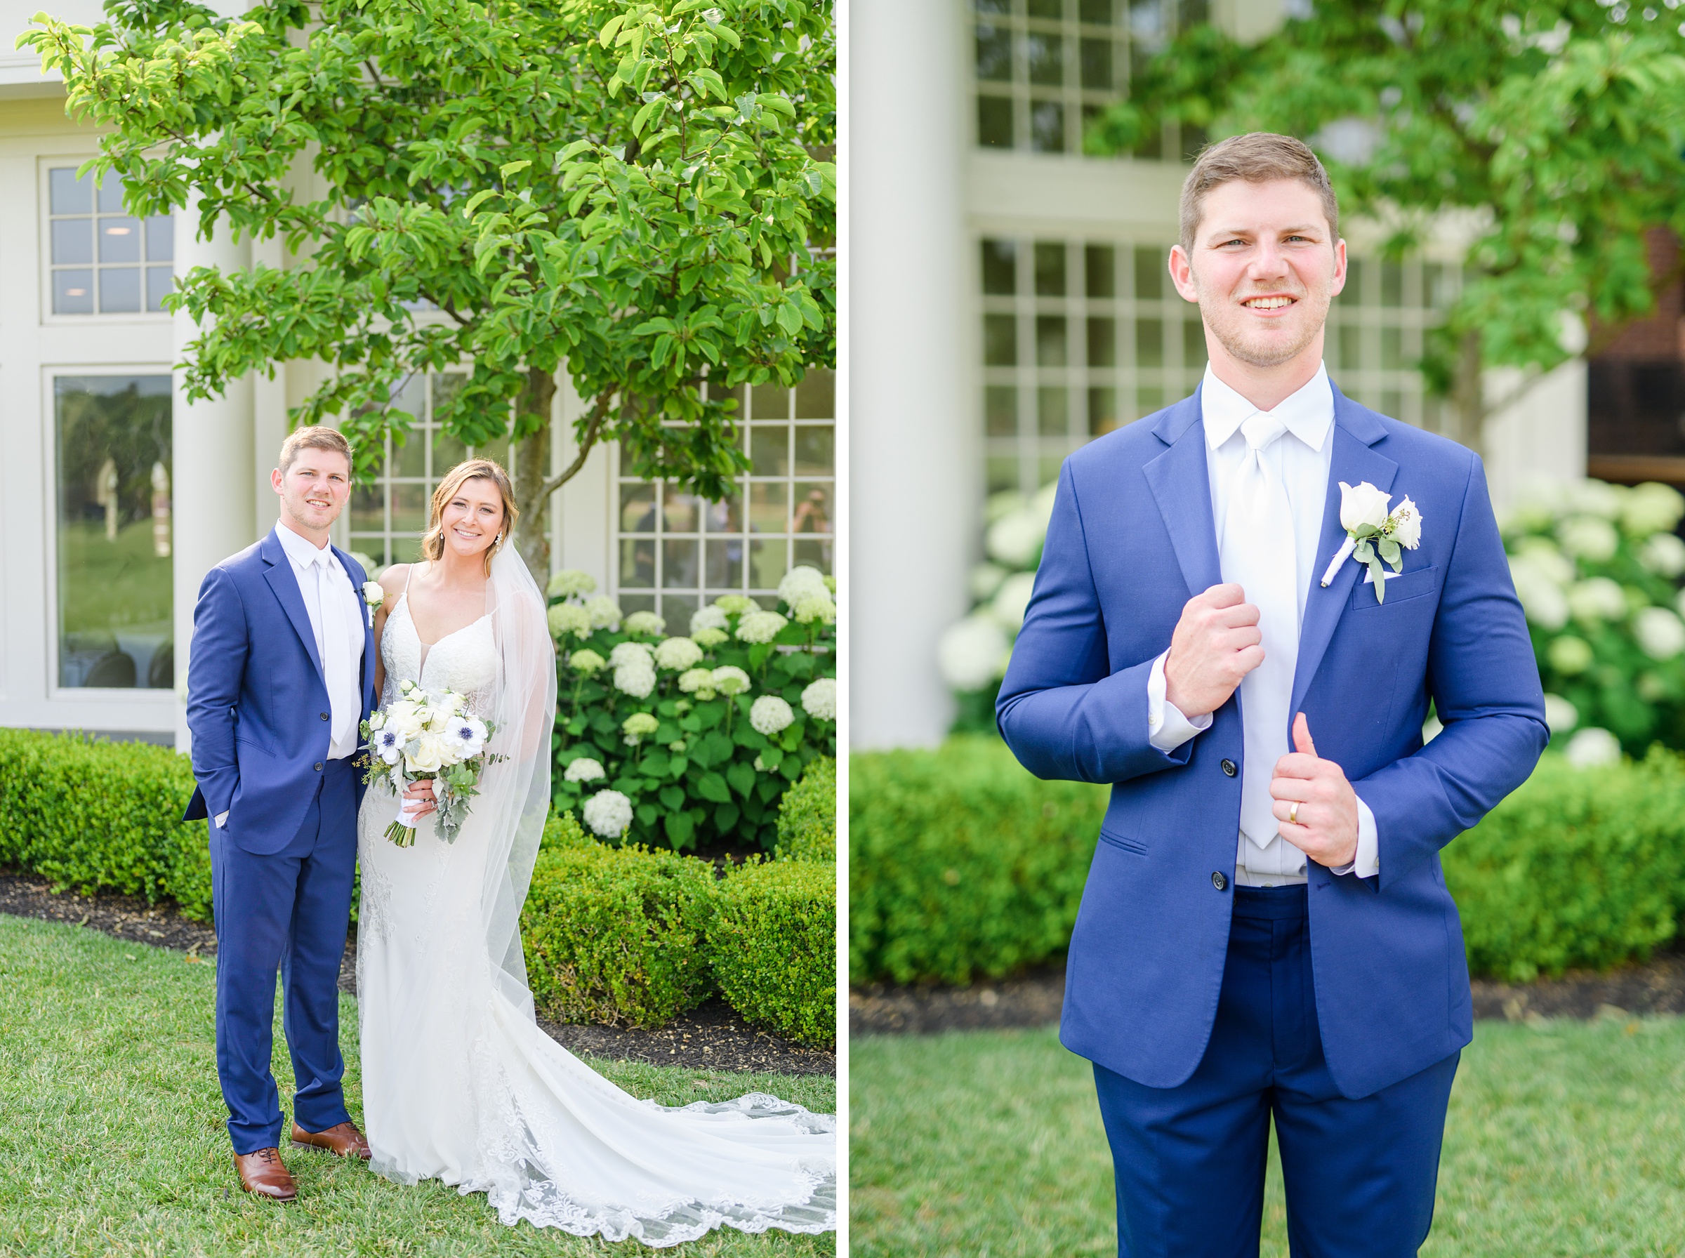
M1321 362L1328 307L1346 286L1346 244L1333 237L1321 195L1296 179L1237 179L1212 189L1200 211L1193 249L1171 249L1169 273L1200 303L1218 374L1225 357L1252 369Z

